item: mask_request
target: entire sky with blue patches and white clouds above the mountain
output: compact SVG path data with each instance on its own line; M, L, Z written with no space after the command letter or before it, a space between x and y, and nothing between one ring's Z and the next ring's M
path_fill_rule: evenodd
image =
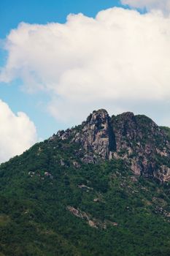
M170 0L1 0L0 162L93 110L170 127Z

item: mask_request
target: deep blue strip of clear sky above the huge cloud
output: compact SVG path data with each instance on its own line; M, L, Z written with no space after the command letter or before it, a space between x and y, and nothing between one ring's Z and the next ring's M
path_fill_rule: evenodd
M100 10L121 6L114 0L2 0L0 2L0 37L5 37L18 23L41 23L66 21L69 13L83 12L94 17Z

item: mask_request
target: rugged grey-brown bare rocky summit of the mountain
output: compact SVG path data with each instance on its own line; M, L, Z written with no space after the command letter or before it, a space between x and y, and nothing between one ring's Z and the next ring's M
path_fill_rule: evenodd
M72 138L72 143L80 145L83 162L125 159L137 176L169 181L169 140L163 129L147 116L127 112L110 118L107 111L101 109L93 111L78 130L59 131L57 136L62 140Z

